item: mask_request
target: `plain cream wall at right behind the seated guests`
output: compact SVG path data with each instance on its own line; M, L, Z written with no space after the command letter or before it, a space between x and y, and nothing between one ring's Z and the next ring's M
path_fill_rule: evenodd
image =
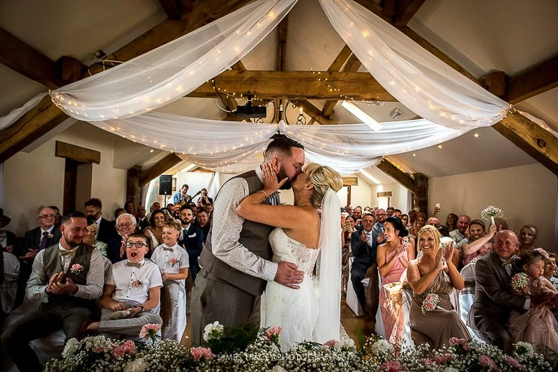
M538 228L537 247L557 250L557 177L541 164L515 166L431 178L428 187L430 205L440 203L440 220L448 213L481 218L489 205L502 208L510 228L518 233L524 224Z

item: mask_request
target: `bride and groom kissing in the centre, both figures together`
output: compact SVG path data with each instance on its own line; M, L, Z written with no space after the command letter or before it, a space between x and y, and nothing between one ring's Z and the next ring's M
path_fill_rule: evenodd
M283 350L302 341L338 340L340 330L341 176L307 164L299 142L277 135L264 163L227 181L215 200L213 221L192 293L192 343L205 325L280 326ZM277 190L292 188L294 206ZM317 262L318 261L318 262ZM317 262L317 278L312 272ZM260 300L265 295L265 323Z

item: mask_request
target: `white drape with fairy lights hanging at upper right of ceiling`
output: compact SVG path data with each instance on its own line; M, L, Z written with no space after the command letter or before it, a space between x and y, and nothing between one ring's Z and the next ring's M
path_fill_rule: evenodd
M335 31L386 91L433 123L462 129L502 119L500 100L352 0L319 0Z

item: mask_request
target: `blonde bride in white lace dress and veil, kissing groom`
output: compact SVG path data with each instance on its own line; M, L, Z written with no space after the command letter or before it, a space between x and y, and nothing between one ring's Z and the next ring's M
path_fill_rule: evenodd
M287 288L269 281L266 327L280 325L280 345L288 350L302 341L338 340L341 300L340 201L341 176L316 163L292 181L294 206L262 203L287 180L278 180L269 164L262 166L264 189L246 197L236 211L244 219L277 226L269 234L273 262L287 261L305 272L300 286ZM321 208L321 210L320 210ZM317 258L319 257L319 260ZM312 272L317 262L316 284Z

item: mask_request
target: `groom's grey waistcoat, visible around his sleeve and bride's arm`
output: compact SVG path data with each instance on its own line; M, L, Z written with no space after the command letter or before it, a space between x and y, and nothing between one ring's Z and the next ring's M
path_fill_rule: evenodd
M262 181L259 180L255 171L249 171L234 178L244 178L246 180L248 183L248 194L253 194L263 187ZM216 196L216 200L218 197L219 195ZM263 204L269 204L269 199L266 199ZM219 217L214 216L214 218ZM271 251L268 238L272 229L273 226L251 222L246 219L240 232L239 242L256 256L262 257L264 260L271 260L273 251ZM251 295L262 295L266 288L266 280L252 277L252 275L236 270L213 255L211 249L212 231L213 224L209 229L202 254L199 256L199 265L212 275L245 290Z

